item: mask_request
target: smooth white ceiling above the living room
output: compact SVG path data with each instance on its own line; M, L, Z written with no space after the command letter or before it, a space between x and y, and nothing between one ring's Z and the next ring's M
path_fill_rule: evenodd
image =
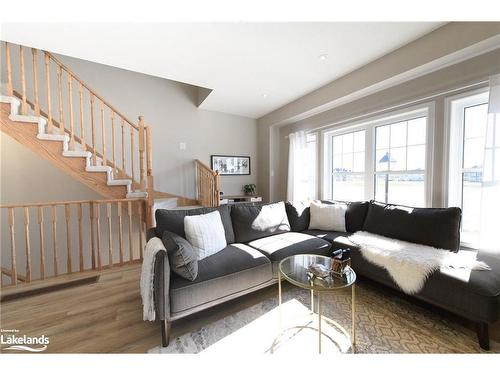
M259 118L441 25L4 23L2 39L208 88L200 108Z

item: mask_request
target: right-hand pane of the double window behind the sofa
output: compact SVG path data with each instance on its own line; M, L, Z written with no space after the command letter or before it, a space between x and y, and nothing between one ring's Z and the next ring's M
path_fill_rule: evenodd
M375 128L375 199L425 206L427 118Z

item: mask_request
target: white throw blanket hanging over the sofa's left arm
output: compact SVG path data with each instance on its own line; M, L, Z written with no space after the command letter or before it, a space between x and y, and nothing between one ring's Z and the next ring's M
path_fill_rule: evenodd
M165 246L158 237L153 237L148 241L144 249L141 270L142 318L150 321L154 321L156 318L153 288L155 259L158 251L166 251Z

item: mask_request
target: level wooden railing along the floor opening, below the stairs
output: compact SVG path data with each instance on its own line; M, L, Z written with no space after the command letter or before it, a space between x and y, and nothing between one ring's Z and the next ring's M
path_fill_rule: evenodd
M146 210L144 199L1 205L2 286L142 261Z

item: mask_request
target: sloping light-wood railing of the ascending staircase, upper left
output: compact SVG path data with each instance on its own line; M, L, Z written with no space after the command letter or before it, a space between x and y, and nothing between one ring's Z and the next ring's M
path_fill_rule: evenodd
M69 136L70 151L78 145L91 152L93 166L111 167L115 179L133 181L133 190L152 191L152 170L146 171L151 130L142 116L129 120L50 52L5 42L5 59L7 95L21 100L21 114L31 108L48 120L48 133Z

